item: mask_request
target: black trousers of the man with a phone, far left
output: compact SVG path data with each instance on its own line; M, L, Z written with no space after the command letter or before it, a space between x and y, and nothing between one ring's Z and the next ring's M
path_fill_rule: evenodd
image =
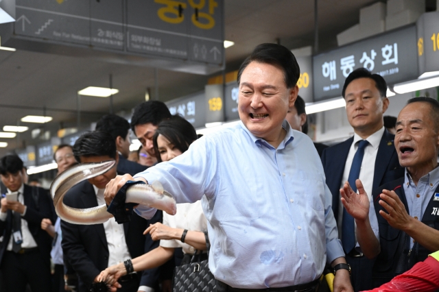
M5 252L1 274L4 292L25 292L27 284L32 292L51 291L50 262L38 251L28 254Z

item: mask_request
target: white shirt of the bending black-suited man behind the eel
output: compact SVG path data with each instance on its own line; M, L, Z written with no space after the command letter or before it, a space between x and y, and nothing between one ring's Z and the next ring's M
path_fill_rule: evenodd
M95 188L97 204L105 204L104 188ZM123 224L118 224L115 217L111 217L108 221L103 223L105 229L105 236L108 244L108 267L123 263L124 260L131 258L128 246L126 245L125 232L123 231Z

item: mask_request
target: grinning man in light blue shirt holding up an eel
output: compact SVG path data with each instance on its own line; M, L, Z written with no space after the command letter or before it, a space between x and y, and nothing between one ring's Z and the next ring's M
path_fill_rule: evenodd
M241 123L134 177L158 180L178 203L202 200L218 291L316 291L326 263L336 266L334 291L353 291L320 158L285 121L299 73L285 47L259 45L238 73ZM107 203L127 180L107 185Z

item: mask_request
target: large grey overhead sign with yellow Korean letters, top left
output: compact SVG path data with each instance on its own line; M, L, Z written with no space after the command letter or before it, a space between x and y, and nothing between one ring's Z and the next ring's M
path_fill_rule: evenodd
M6 25L2 45L19 49L200 74L224 67L223 0L16 0Z

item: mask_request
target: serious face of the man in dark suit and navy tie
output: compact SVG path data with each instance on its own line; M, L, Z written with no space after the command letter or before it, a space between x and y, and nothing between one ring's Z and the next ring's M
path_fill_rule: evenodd
M381 97L374 80L353 80L346 87L344 99L348 121L361 137L367 138L383 127L383 113L389 106L389 99Z

